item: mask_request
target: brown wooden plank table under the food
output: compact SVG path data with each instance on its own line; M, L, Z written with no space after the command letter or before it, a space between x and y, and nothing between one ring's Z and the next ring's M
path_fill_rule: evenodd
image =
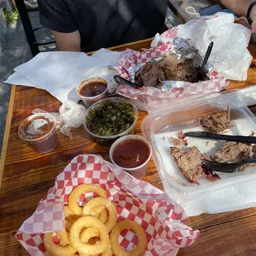
M112 50L126 48L140 50L149 47L149 40L117 46ZM256 66L251 67L245 82L231 82L228 89L248 87L256 82ZM17 130L31 111L58 111L60 102L37 88L12 86L7 116L7 126L0 162L0 255L28 255L15 234L22 222L36 210L38 201L54 185L55 177L78 154L102 154L107 157L107 147L96 145L83 127L73 129L72 140L59 134L58 147L49 154L37 154L18 137ZM256 107L250 107L256 114ZM147 112L140 111L135 133L141 135L140 124ZM163 189L153 160L145 181ZM254 188L252 188L254 189ZM179 256L235 256L256 255L256 208L215 215L203 214L187 221L201 236L192 246L180 249Z

